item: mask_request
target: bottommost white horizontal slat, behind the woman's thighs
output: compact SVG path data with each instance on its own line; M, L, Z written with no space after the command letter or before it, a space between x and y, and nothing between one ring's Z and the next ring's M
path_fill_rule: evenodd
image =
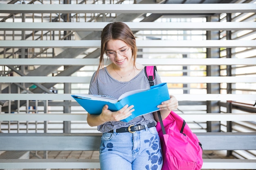
M0 159L4 169L100 168L99 159ZM203 159L202 169L255 169L255 159Z

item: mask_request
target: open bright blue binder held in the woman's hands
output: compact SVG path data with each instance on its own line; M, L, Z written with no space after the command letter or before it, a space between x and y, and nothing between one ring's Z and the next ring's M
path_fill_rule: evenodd
M150 89L126 92L121 95L118 100L109 96L87 94L75 94L72 95L72 97L92 115L101 114L101 110L106 104L111 111L120 110L126 104L129 106L134 105L135 110L132 112L132 115L121 120L125 122L128 122L137 116L159 110L157 105L170 99L166 83L151 86Z

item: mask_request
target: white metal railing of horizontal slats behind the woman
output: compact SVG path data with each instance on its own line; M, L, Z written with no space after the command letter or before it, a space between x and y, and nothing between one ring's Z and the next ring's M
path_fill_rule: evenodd
M58 5L27 5L27 4L2 4L0 5L0 13L255 13L256 4L58 4ZM0 31L101 31L107 22L94 22L94 23L29 23L29 22L5 22L0 23ZM147 31L147 30L204 30L204 31L241 31L241 30L256 30L255 22L169 22L169 23L154 23L154 22L127 22L128 26L132 31ZM251 32L248 35L252 35L255 32ZM146 34L142 34L146 35ZM223 34L225 35L225 34ZM161 35L160 35L161 36ZM192 34L191 34L192 36ZM239 38L238 38L239 39ZM255 49L255 40L137 40L137 46L139 48L252 48ZM99 48L100 40L1 40L0 48ZM254 66L256 65L255 58L204 58L204 59L192 59L192 58L173 58L173 59L140 59L137 61L144 65L179 65L179 66L193 66L193 65L245 65ZM69 65L69 66L97 66L99 59L0 59L1 66L13 66L13 65ZM32 80L31 80L32 79ZM0 77L0 83L89 83L91 77ZM256 77L161 77L162 82L168 83L255 83ZM73 100L71 94L0 94L0 100ZM177 94L175 97L179 101L229 101L229 100L251 100L256 99L255 94ZM27 107L28 107L27 102ZM10 103L11 104L11 103ZM48 105L46 104L46 107ZM1 107L1 106L0 106ZM1 108L0 108L1 109ZM206 110L204 110L206 112ZM254 121L256 120L256 113L210 113L210 114L180 114L186 121ZM0 114L0 120L8 122L11 121L85 121L87 114L83 113L40 113L40 114ZM1 125L1 124L0 124ZM10 127L10 126L9 126ZM8 128L9 128L8 127ZM24 139L24 145L27 145L27 134L7 134L13 135L13 138L9 141L17 141L16 150L22 149L20 139ZM35 135L35 136L33 136ZM43 149L54 148L54 144L60 144L61 149L66 149L64 146L72 146L70 143L61 143L58 135L67 139L67 141L74 140L72 134L44 134L48 141L44 139L44 144L41 145ZM56 135L56 136L55 136ZM81 134L79 134L81 135ZM77 135L76 137L79 137ZM94 134L95 135L95 134ZM204 139L209 143L206 144L208 149L216 149L222 147L222 149L245 149L247 145L244 144L244 139L249 142L250 149L256 149L255 133L240 133L236 135L233 132L221 132L218 137L211 136L212 133L201 134L200 139ZM223 136L222 136L223 135ZM249 138L246 138L249 136ZM33 138L34 137L34 138ZM5 141L6 138L0 135L0 139L4 144L9 144L9 148L12 149L13 145ZM38 140L40 144L40 135L30 134L29 139ZM51 140L52 139L52 140ZM62 138L63 139L63 138ZM96 138L92 138L96 139ZM97 137L97 139L99 139ZM217 139L216 141L209 141L209 139ZM54 141L49 144L49 141ZM98 140L99 141L99 140ZM60 143L58 143L60 142ZM84 140L79 141L84 144ZM222 144L225 142L225 146ZM234 142L238 142L234 144ZM254 143L251 143L254 142ZM211 143L211 144L210 144ZM92 143L87 144L87 149L95 149L91 147ZM38 146L34 144L37 149ZM91 147L91 148L90 148ZM94 146L95 147L95 146ZM74 148L73 148L74 149ZM0 146L0 150L1 146ZM1 168L100 168L99 160L59 160L59 159L42 159L42 160L0 160ZM203 169L255 169L256 161L253 160L241 160L241 159L204 159Z

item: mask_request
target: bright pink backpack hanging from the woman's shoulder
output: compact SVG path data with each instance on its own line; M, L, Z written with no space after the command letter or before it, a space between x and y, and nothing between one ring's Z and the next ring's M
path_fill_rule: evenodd
M146 66L145 73L151 85L156 67ZM200 170L202 168L202 144L179 115L171 113L156 128L160 137L163 155L162 170Z

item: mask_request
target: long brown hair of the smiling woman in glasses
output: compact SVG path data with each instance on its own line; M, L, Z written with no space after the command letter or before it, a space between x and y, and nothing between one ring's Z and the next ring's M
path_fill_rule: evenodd
M110 40L122 40L130 46L132 50L133 65L135 66L137 57L137 46L135 42L135 36L130 30L129 26L123 22L112 22L107 24L101 33L101 56L99 58L99 67L96 75L99 73L99 69L103 68L104 58L106 53L106 44Z

